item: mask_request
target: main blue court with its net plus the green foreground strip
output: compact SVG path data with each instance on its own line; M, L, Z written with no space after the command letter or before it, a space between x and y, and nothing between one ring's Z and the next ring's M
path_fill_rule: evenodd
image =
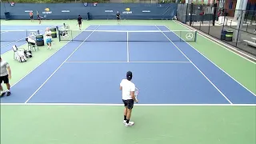
M1 98L2 143L255 143L256 95L192 46L197 32L90 25L66 34ZM118 89L128 70L140 90L129 128Z

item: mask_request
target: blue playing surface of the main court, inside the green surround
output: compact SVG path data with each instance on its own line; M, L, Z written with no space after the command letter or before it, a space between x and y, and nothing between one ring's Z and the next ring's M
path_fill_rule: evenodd
M169 30L166 26L89 26L86 30ZM158 33L159 34L159 33ZM119 83L134 74L140 104L256 104L256 96L174 33L169 42L68 42L14 85L3 103L122 104ZM161 33L160 33L161 34ZM101 38L100 32L78 37ZM130 38L133 36L130 35ZM108 35L108 38L116 38Z

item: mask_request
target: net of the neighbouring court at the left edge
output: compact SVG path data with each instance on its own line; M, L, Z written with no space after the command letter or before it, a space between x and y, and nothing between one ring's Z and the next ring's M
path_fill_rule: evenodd
M37 34L38 30L1 30L1 42L18 42Z

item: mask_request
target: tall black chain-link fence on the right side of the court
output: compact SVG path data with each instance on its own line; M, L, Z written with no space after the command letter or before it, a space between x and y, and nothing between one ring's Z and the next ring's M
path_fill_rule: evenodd
M178 4L177 19L214 38L256 55L256 10Z

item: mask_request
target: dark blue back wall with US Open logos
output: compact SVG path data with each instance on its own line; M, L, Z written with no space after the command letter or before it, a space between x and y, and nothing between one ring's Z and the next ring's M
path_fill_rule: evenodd
M88 6L84 6L84 3L16 3L15 6L5 3L1 6L1 18L6 18L5 12L10 12L11 19L28 19L30 10L34 11L34 17L38 10L40 15L46 15L46 19L75 19L78 14L87 18L87 13L92 19L112 19L117 11L121 18L126 19L171 19L176 15L177 6L177 3L98 3L97 6L92 3Z

